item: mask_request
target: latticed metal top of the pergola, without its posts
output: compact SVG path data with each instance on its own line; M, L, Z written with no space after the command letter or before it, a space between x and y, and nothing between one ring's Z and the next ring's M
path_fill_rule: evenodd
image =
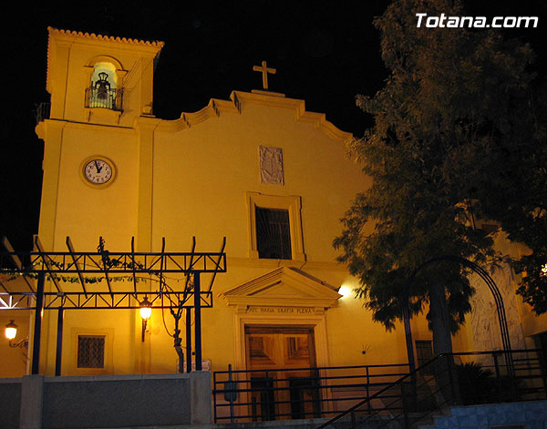
M170 309L173 307L212 307L212 282L217 272L226 271L226 254L224 248L226 239L222 240L220 252L196 252L196 240L192 238L191 252L166 252L165 238L161 242L161 251L156 253L135 252L135 240L131 239L131 251L110 252L77 252L72 240L67 237L67 252L46 252L38 237L35 238L36 250L16 253L7 239L3 244L7 252L0 258L9 258L17 267L16 270L6 269L0 264L0 272L26 273L29 275L47 274L56 284L57 291L44 293L44 308L53 309L138 309L139 296L150 295L154 308ZM21 260L30 260L30 268L23 266ZM165 282L165 273L175 272L186 276L181 288L173 289ZM116 290L112 286L110 276L113 273L129 274L132 277L132 287L126 290ZM158 291L139 291L137 275L139 273L159 277ZM194 279L201 273L211 273L212 280L206 291L200 291L199 296L194 291ZM63 291L59 285L61 276L72 274L77 276L81 291ZM108 291L88 291L86 274L102 274L107 281ZM27 280L26 280L27 281ZM28 283L28 281L27 281ZM28 283L29 284L29 283ZM29 284L30 286L30 284ZM2 291L4 290L4 291ZM36 291L13 291L5 282L0 281L0 299L4 302L1 310L33 310ZM197 303L200 301L200 303Z

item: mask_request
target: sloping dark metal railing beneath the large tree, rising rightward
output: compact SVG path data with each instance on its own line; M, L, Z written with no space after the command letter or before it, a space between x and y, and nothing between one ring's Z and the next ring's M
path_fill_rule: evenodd
M546 386L541 350L440 354L317 429L414 428L449 406L545 399Z

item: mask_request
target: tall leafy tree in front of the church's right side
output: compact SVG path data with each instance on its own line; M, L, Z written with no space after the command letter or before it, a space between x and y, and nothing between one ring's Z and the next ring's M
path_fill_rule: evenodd
M491 236L471 221L482 213L480 179L490 165L482 157L521 141L513 122L522 124L532 81L528 46L489 30L418 28L418 13L465 15L458 0L395 0L375 20L389 77L375 97L357 97L374 126L350 143L372 185L356 196L334 241L360 281L358 296L387 329L402 316L405 281L425 260L481 264L495 256ZM431 265L411 290L412 313L430 304L436 354L451 352L446 332L457 332L470 312L467 274L453 262Z

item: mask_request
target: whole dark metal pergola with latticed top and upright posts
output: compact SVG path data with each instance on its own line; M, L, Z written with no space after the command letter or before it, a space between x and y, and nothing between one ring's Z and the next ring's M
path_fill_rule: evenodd
M201 309L212 307L212 284L217 273L226 272L225 238L219 252L195 251L195 238L190 252L166 252L165 238L160 252L136 252L134 238L129 252L105 250L102 237L96 252L75 251L69 237L67 251L45 251L37 236L33 251L17 252L6 238L2 244L5 251L0 252L0 273L22 276L26 290L15 291L8 281L0 281L0 311L35 311L31 373L39 371L45 310L58 312L56 375L60 375L65 310L139 309L142 298L149 299L153 309L169 309L173 316L174 310L179 315L181 310L186 312L186 367L189 372L191 312L194 312L196 370L201 371ZM178 274L183 278L171 287L166 274ZM202 274L211 277L204 288L201 287ZM124 280L127 281L120 282L121 288L113 286L116 276L126 276ZM154 291L152 288L146 290L141 285L148 281L140 281L140 276L156 281L158 287ZM36 288L32 278L37 279ZM51 291L45 291L46 281L52 282ZM178 320L176 322L178 326Z

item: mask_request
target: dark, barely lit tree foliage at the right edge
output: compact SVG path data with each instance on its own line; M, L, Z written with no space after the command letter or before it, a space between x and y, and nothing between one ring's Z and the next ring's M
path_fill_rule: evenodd
M517 293L537 314L547 312L546 96L545 84L531 90L528 105L512 121L513 141L482 157L474 172L474 180L485 183L478 189L480 214L500 222L509 240L527 248L512 266L522 273Z

